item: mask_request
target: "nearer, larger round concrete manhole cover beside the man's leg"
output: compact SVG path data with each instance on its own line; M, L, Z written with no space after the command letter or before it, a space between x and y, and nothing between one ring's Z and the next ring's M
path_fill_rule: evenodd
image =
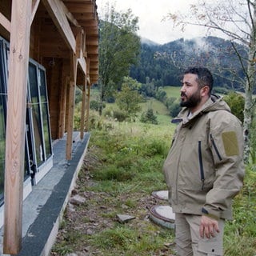
M174 229L175 214L170 206L151 207L150 219L160 226Z

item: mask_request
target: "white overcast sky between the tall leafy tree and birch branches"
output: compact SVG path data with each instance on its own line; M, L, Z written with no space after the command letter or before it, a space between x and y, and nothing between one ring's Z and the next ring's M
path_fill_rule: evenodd
M138 35L142 38L163 44L178 38L195 38L205 35L202 28L196 26L182 33L179 29L174 29L170 21L162 21L169 12L189 11L190 4L198 0L96 0L99 17L106 2L114 3L116 10L126 11L130 8L134 16L138 16Z

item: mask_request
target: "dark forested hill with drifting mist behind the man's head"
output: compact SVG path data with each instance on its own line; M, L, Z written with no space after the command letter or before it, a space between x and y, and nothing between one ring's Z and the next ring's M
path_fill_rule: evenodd
M237 50L246 56L243 46ZM130 77L155 86L179 86L182 71L188 66L206 66L214 74L214 86L242 90L244 73L230 41L216 37L178 39L164 45L142 41L141 58L130 69ZM149 78L149 79L148 79Z

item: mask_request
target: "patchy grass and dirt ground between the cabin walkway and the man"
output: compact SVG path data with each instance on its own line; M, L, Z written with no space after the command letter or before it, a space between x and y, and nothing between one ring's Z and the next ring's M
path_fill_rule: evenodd
M151 193L166 189L162 163L173 132L171 125L137 122L113 122L110 130L91 131L86 156L96 160L88 160L92 166L80 170L77 190L93 196L76 209L75 216L67 211L51 255L75 253L85 247L94 255L104 256L174 254L173 246L169 246L174 242L174 232L148 218L150 206L158 203ZM88 175L90 186L86 182ZM120 213L136 218L122 224L115 219ZM91 223L98 227L93 235L86 234Z

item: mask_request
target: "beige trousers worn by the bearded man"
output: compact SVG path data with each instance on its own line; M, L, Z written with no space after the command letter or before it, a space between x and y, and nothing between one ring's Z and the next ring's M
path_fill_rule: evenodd
M222 256L224 220L218 221L220 232L214 238L201 238L201 216L175 214L176 248L179 256Z

